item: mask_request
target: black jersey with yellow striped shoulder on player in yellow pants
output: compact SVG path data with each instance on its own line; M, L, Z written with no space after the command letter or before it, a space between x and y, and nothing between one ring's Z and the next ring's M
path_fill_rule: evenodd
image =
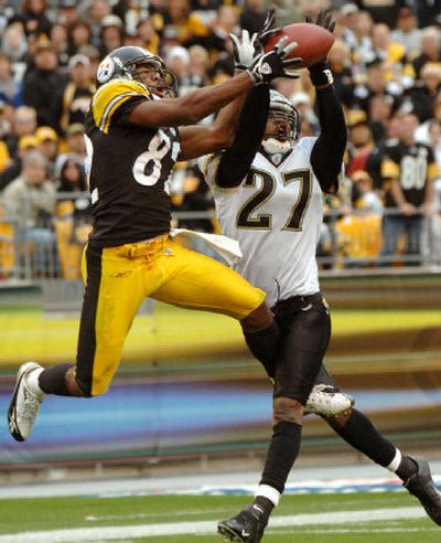
M173 128L130 124L130 111L153 99L135 81L114 79L94 95L86 118L94 230L90 244L112 247L170 231L170 177L180 145Z

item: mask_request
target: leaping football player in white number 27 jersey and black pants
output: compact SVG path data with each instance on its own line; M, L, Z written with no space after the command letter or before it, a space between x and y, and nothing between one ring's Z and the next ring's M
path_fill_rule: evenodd
M319 13L316 24L333 30L327 13ZM320 292L315 247L323 192L338 188L346 127L325 61L309 70L316 89L319 138L299 138L299 113L289 99L271 91L268 100L268 93L257 89L248 95L234 145L201 160L223 232L240 243L236 269L267 292L281 331L277 361L266 366L273 379L273 435L254 503L218 524L229 541L261 540L298 456L304 405L314 383L338 391L323 366L331 320ZM349 445L397 473L441 524L441 494L426 460L401 455L352 405L325 419Z

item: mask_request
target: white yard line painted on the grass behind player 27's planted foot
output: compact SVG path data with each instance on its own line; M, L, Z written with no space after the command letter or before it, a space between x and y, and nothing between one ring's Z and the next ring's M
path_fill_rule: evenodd
M426 517L421 508L372 509L367 511L333 511L327 513L275 517L270 528L316 526L318 524L346 524L357 522L411 520ZM46 530L0 535L0 543L100 543L104 541L129 541L161 535L205 535L216 533L215 521L141 524L112 528L73 530Z

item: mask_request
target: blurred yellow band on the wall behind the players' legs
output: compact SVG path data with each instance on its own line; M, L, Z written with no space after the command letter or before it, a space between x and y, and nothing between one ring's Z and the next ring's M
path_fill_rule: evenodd
M333 334L441 327L438 310L334 310ZM0 311L0 365L23 360L43 363L74 358L78 318L46 318L39 311ZM153 315L138 316L127 338L123 359L150 361L247 352L240 326L223 315L158 304Z

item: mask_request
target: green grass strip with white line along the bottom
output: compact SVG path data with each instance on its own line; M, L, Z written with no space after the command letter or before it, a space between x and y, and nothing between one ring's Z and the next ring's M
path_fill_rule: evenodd
M0 500L0 542L215 543L222 541L215 535L217 521L249 500L237 496ZM263 539L263 543L440 541L441 528L406 492L284 496Z

